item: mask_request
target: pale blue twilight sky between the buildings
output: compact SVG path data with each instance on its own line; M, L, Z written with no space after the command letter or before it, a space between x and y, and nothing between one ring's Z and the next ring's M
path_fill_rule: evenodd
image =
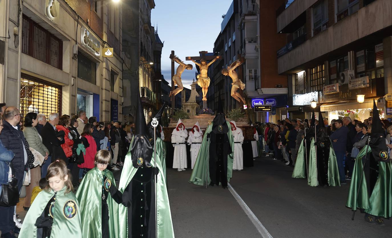
M158 26L159 38L164 41L161 68L166 81L171 85L171 60L169 55L174 50L186 64L192 64L192 70L182 74L183 86L191 88L195 79L196 68L192 61L185 61L187 56L198 56L199 51L212 52L214 42L220 33L222 15L226 14L232 0L155 0L155 9L151 11L151 24ZM202 24L200 24L202 23ZM178 64L175 63L175 69Z

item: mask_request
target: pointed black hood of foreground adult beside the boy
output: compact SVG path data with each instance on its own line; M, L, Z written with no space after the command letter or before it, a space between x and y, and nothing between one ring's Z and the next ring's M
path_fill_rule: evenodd
M152 158L152 137L145 121L142 99L138 97L136 109L135 135L131 145L132 165L135 168L151 167Z

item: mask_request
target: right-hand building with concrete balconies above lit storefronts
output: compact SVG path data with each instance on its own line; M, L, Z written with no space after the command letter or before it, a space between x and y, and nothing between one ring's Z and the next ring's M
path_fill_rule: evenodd
M313 99L329 121L363 121L373 99L391 117L384 100L392 92L390 9L390 0L295 0L277 16L276 31L287 37L277 57L291 117L309 118Z

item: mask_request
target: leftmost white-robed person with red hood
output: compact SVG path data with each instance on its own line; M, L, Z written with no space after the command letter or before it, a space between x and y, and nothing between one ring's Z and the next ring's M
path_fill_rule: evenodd
M176 129L172 132L171 141L174 147L174 156L173 156L173 168L176 168L177 171L183 171L187 168L187 146L185 144L185 139L188 137L188 132L185 130L185 126L182 123L181 119L178 119Z

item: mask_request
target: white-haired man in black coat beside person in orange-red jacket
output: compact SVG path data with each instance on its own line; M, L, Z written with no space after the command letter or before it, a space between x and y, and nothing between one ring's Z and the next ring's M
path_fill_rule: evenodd
M49 161L53 162L56 159L62 159L68 165L68 158L64 154L61 145L65 143L64 136L58 135L56 125L58 124L58 113L51 113L48 117L49 121L41 130L42 143L49 150ZM68 136L68 135L65 135Z

